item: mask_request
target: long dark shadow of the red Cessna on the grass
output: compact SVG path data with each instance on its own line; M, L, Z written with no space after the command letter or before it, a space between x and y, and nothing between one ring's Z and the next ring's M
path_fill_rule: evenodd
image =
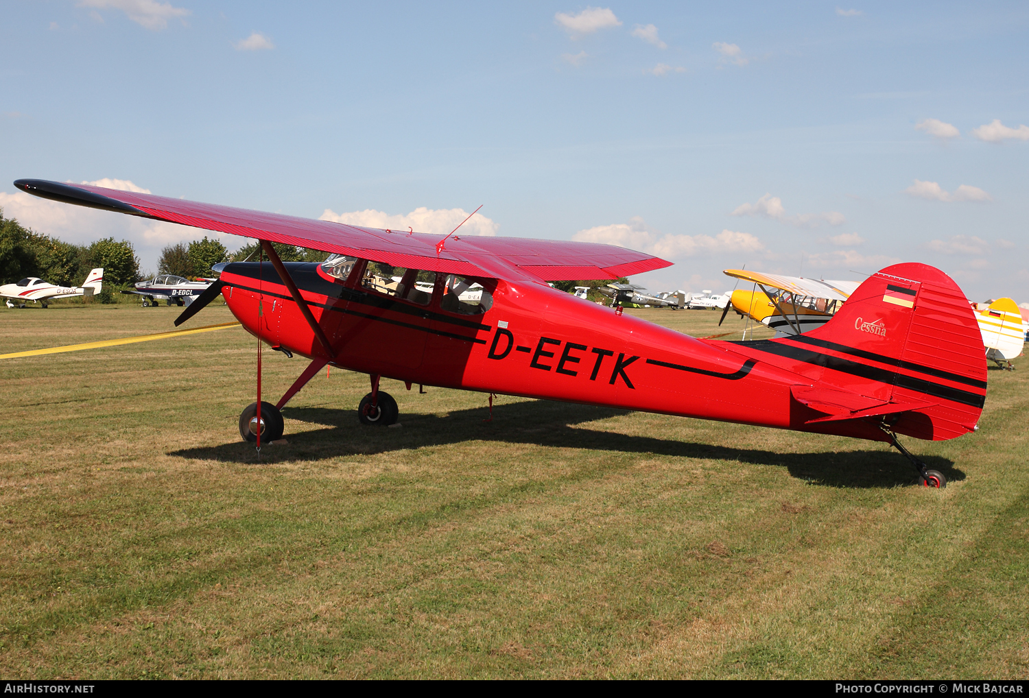
M262 449L261 462L275 464L282 461L319 461L339 455L370 455L405 448L484 440L735 461L741 466L776 466L786 468L795 478L830 487L893 487L912 484L916 479L912 465L899 453L892 451L859 449L787 453L677 441L672 438L632 436L576 426L628 413L629 410L624 409L535 400L495 405L493 421L489 423L484 421L484 417L488 415L484 407L455 410L449 414L405 412L400 415L402 428L391 429L362 427L353 409L287 407L283 410L283 416L287 419L286 439L289 444ZM325 429L291 434L289 420L323 425ZM169 454L240 464L254 464L257 461L253 444L242 441L186 448ZM942 472L948 481L965 479L965 473L949 458L934 455L920 457L929 468ZM741 471L741 477L744 476L745 472Z

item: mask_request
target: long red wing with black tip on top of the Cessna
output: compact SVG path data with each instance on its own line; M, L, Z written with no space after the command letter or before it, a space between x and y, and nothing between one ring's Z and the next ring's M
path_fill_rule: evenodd
M330 221L198 204L88 184L17 180L23 191L66 204L180 223L245 237L336 252L393 266L471 277L543 281L617 279L669 266L671 262L613 245L518 237L440 235L363 228ZM521 270L523 273L519 273Z

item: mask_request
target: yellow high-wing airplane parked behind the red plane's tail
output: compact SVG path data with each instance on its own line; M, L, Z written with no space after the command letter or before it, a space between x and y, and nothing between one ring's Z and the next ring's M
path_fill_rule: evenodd
M744 269L725 269L725 274L752 282L753 289L733 291L721 319L725 319L732 307L739 315L775 330L777 337L803 334L821 327L860 284L853 281L783 277Z

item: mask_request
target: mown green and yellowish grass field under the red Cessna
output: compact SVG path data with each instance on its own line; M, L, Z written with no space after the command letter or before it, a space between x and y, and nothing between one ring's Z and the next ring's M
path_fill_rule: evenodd
M0 353L178 311L2 308ZM0 674L1029 677L1025 370L990 371L978 433L906 440L928 490L883 444L509 397L485 423L392 380L401 426L362 428L342 370L258 461L255 348L0 361ZM265 352L265 396L304 366Z

